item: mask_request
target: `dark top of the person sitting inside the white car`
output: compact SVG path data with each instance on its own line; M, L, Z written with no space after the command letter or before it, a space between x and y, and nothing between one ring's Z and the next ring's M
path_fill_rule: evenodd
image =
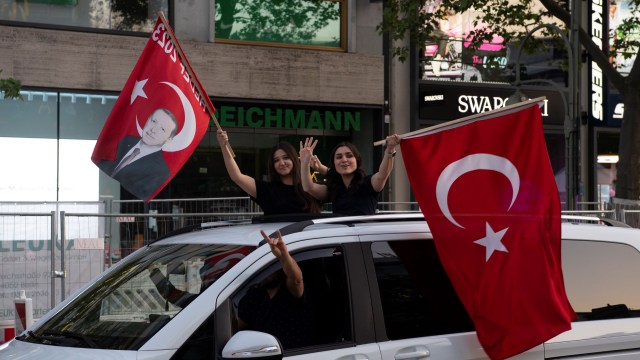
M238 304L238 317L249 330L262 331L278 338L284 349L313 345L315 317L305 294L296 299L282 284L269 299L264 287L252 287Z

